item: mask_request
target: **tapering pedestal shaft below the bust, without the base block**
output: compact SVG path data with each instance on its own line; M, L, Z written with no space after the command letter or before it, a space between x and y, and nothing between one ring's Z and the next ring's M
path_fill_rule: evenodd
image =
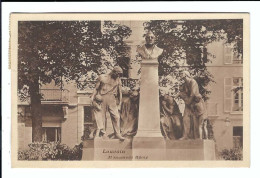
M160 106L157 60L141 64L140 103L137 137L163 138L160 129Z

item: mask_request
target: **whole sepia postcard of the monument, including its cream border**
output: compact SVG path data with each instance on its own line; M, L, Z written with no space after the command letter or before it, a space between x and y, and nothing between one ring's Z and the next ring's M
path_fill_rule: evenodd
M14 167L249 167L249 14L10 19Z

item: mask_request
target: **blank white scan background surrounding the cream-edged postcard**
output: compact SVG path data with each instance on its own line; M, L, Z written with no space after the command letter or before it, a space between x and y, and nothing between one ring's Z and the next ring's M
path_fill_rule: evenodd
M115 5L116 4L116 5ZM236 176L236 177L258 177L259 170L259 117L256 113L258 107L257 98L260 98L259 80L257 82L257 73L259 51L259 17L258 2L152 2L152 3L2 3L2 103L3 103L3 177L75 177L75 176L105 176L105 177L133 177L133 176L149 176L149 177L189 177L195 175L198 177L220 177L220 176ZM11 12L250 12L251 14L251 168L250 169L11 169L11 88L10 88L10 70L8 70L8 41L9 41L9 13ZM258 23L258 24L257 24ZM254 84L255 81L255 84ZM257 86L256 86L257 85ZM258 99L259 100L259 99ZM255 104L255 105L254 105ZM257 108L256 108L257 107ZM255 113L253 112L255 111ZM132 174L131 174L132 173ZM134 174L133 174L134 173ZM148 173L148 174L147 174ZM253 176L254 175L254 176Z

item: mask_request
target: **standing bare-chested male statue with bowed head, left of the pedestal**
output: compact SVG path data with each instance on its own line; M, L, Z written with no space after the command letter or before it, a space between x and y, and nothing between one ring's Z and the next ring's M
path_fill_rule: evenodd
M93 92L91 100L93 101L97 94L102 97L102 115L103 119L106 120L106 112L109 112L112 120L112 125L114 129L115 138L124 140L124 137L120 134L119 128L119 112L116 102L116 96L119 97L119 107L121 107L122 101L122 91L121 91L121 80L120 76L122 75L123 70L121 67L116 66L114 69L107 75L100 75L96 88ZM105 120L103 123L105 123Z

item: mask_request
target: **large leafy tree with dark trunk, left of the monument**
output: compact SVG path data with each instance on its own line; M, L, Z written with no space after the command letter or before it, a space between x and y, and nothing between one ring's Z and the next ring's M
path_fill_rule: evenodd
M19 22L18 93L20 99L30 99L33 142L42 140L40 85L54 80L55 85L62 86L64 79L84 87L86 83L82 84L80 78L88 71L99 72L104 53L115 60L130 33L129 28L114 25L103 34L100 21Z

